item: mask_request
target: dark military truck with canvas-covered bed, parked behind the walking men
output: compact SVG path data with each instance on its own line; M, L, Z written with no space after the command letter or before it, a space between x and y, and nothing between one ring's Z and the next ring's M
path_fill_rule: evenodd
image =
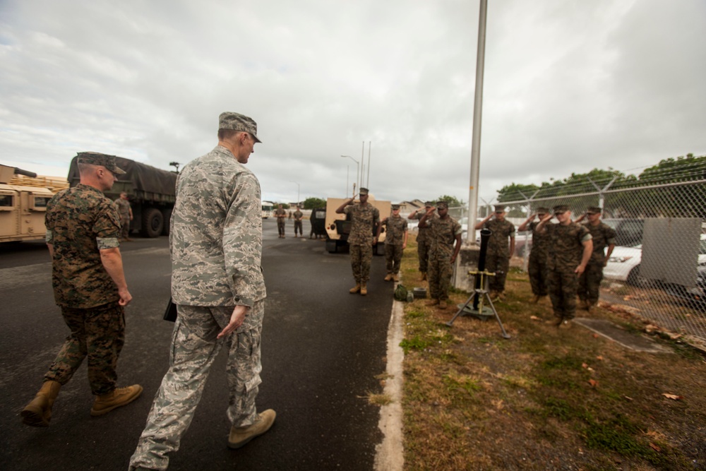
M80 176L76 157L68 168L68 183L78 185ZM123 191L128 194L128 201L133 210L131 231L138 231L143 237L169 235L169 220L172 217L176 201L177 173L145 165L124 157L115 157L118 167L125 170L118 175L113 188L104 191L105 196L114 200Z

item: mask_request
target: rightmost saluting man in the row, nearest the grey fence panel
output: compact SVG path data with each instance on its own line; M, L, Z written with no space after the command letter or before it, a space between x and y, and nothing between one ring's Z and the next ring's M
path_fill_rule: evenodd
M591 233L593 254L586 270L578 280L578 297L586 311L590 311L598 303L603 280L603 268L608 263L616 246L615 230L601 221L602 210L598 206L589 206L586 213L578 217L576 222L588 219L584 225ZM608 251L606 252L606 246Z

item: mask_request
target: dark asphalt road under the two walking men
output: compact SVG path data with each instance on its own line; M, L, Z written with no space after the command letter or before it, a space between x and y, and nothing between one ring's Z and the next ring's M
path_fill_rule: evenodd
M227 449L225 353L215 362L201 404L170 470L372 470L382 440L378 407L393 285L375 257L367 297L348 294L347 254L328 254L323 240L277 238L264 220L263 268L268 297L263 326L263 383L258 408L273 408L268 434ZM304 233L309 223L304 222ZM166 237L121 248L133 302L119 386L140 383L135 403L90 417L85 366L62 388L50 427L20 422L68 329L54 304L44 244L0 247L0 469L126 470L169 360L172 323Z

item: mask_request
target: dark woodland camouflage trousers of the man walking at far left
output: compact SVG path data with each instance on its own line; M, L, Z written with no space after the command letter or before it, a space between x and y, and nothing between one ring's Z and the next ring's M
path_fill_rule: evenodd
M115 389L115 368L125 343L125 314L117 302L90 309L61 306L66 326L71 330L44 381L66 384L84 358L88 358L88 383L94 395Z

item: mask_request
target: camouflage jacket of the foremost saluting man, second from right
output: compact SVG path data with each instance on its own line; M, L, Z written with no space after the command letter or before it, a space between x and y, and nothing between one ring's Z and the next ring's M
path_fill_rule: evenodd
M581 264L583 242L591 240L591 234L583 225L570 222L561 224L546 224L547 240L549 241L549 270L572 272Z

